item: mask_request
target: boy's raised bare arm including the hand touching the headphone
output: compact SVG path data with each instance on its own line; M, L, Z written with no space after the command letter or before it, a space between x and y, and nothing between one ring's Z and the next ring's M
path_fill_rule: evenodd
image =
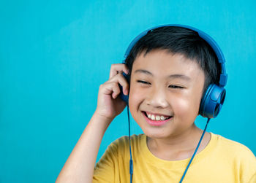
M97 109L69 155L56 182L92 182L94 165L103 135L110 122L127 105L118 97L120 93L118 84L123 87L123 93L128 94L129 86L121 74L123 71L128 74L127 66L122 63L111 66L110 79L99 86Z

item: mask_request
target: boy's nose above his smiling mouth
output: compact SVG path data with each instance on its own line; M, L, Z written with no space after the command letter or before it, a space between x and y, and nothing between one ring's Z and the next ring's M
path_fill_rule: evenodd
M147 102L149 106L155 108L165 108L168 106L167 96L165 93L165 89L154 88L150 93L147 93Z

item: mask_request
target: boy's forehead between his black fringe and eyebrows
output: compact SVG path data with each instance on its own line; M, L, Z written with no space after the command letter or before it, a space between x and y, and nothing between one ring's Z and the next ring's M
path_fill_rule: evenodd
M144 52L138 55L132 66L132 75L138 74L187 81L204 77L203 71L195 61L181 54L172 54L167 50L152 50L145 56Z

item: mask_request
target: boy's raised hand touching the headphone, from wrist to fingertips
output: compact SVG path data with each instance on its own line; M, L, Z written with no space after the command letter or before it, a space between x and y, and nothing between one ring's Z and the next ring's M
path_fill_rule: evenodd
M111 65L110 78L107 82L99 86L96 114L106 117L110 122L120 114L126 103L118 96L120 88L118 83L123 87L124 95L128 95L129 85L127 79L121 74L128 74L128 68L124 63L116 63Z

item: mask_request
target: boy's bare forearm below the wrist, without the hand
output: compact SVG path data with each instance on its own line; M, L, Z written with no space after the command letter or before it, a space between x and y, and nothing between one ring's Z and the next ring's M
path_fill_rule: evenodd
M92 182L99 145L111 120L94 113L56 182Z

